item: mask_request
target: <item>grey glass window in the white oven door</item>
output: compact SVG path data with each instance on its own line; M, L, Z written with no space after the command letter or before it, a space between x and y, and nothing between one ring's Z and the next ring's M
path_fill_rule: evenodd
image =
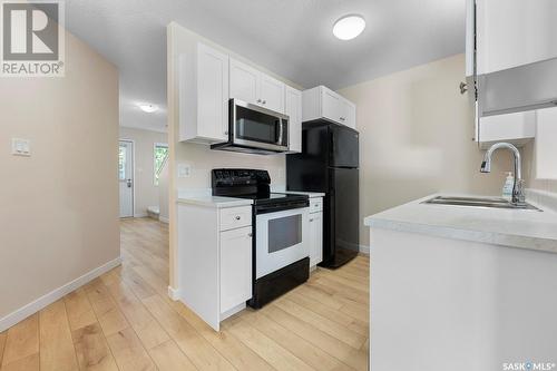
M302 215L268 221L268 253L289 248L302 243Z

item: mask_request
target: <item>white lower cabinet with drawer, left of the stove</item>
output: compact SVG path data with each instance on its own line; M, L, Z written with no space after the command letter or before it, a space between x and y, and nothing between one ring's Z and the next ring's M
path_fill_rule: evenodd
M176 299L216 331L252 297L251 209L178 202Z

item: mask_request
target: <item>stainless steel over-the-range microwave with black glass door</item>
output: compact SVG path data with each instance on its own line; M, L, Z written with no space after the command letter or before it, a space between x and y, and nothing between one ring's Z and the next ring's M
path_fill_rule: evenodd
M229 100L228 141L212 149L252 154L289 150L289 116L240 99Z

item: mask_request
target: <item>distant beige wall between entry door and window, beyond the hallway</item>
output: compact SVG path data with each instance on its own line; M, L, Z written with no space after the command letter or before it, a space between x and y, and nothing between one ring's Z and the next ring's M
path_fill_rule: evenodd
M120 127L120 139L134 140L136 217L146 216L147 207L158 206L159 188L155 186L154 146L168 143L168 135L144 129Z

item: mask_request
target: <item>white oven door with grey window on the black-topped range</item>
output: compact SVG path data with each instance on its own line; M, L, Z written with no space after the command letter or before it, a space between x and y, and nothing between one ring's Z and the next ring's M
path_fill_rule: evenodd
M310 256L309 207L256 215L255 279Z

